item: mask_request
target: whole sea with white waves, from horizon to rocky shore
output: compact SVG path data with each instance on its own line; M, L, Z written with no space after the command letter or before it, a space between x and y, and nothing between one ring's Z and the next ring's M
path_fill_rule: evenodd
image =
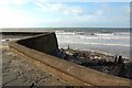
M59 48L69 46L73 50L92 51L130 58L130 29L128 28L21 28L1 30L2 32L54 31Z

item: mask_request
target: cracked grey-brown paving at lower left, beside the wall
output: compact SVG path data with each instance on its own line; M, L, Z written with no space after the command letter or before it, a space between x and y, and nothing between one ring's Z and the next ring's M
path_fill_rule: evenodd
M45 70L41 70L32 62L13 53L8 43L2 47L2 86L69 86Z

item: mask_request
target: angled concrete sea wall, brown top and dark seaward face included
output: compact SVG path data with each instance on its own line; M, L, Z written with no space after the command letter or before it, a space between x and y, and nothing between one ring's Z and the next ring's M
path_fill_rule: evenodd
M10 42L9 46L25 57L38 61L38 66L43 65L44 69L72 85L130 86L130 79L100 73L50 55L58 51L54 32Z

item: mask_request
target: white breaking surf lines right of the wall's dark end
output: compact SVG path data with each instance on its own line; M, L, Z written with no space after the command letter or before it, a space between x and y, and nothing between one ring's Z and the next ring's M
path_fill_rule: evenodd
M129 35L118 35L118 34L79 35L75 32L65 32L65 33L56 32L56 34L58 42L61 43L130 46Z

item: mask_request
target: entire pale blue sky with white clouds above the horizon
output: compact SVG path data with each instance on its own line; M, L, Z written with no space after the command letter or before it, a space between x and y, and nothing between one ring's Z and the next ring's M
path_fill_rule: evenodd
M0 28L92 26L130 26L130 2L0 0Z

